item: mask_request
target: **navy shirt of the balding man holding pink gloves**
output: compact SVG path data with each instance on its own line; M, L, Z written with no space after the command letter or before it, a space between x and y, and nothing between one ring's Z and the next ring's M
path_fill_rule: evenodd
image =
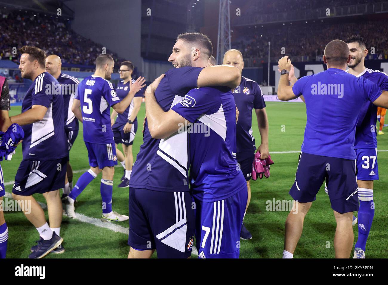
M239 109L239 119L236 125L237 152L252 152L256 150L252 130L252 110L265 108L262 90L251 79L241 77L240 85L233 91L234 101Z

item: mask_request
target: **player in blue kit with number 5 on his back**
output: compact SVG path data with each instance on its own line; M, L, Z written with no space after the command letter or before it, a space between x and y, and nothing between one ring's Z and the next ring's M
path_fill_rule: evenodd
M111 128L110 107L122 114L131 103L134 94L129 93L123 100L117 96L112 83L109 82L114 66L110 55L100 54L95 65L94 74L84 78L78 85L72 107L75 116L83 123L83 140L88 150L90 169L81 175L69 196L64 200L65 211L71 218L76 218L74 201L102 171L101 220L125 221L129 218L128 216L120 215L112 210L113 175L117 157ZM134 90L144 87L144 81L144 78L138 78L133 83Z

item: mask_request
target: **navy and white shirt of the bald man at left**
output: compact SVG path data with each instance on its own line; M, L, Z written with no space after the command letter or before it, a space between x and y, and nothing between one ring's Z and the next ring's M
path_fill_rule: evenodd
M79 123L73 111L71 111L71 107L73 106L74 96L80 81L78 81L77 78L64 73L61 73L57 80L62 86L65 130L76 131L79 129Z

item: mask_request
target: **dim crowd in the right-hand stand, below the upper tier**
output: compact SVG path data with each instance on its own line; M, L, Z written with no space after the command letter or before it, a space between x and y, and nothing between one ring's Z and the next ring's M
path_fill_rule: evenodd
M271 57L281 57L282 48L286 55L309 57L315 61L322 57L326 44L333 39L345 40L350 35L360 35L374 55L369 58L388 59L388 25L381 21L357 21L346 23L325 23L319 20L301 24L280 26L279 28L262 28L261 26L244 27L236 30L237 40L232 41L232 48L241 50L244 59L258 59L264 62L268 57L270 41ZM306 59L303 59L304 61Z

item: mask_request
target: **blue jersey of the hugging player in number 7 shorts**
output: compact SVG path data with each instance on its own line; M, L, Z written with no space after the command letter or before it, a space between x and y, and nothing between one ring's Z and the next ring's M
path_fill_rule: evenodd
M236 161L236 107L230 89L193 89L171 109L194 123L188 131L193 196L214 202L246 189Z

